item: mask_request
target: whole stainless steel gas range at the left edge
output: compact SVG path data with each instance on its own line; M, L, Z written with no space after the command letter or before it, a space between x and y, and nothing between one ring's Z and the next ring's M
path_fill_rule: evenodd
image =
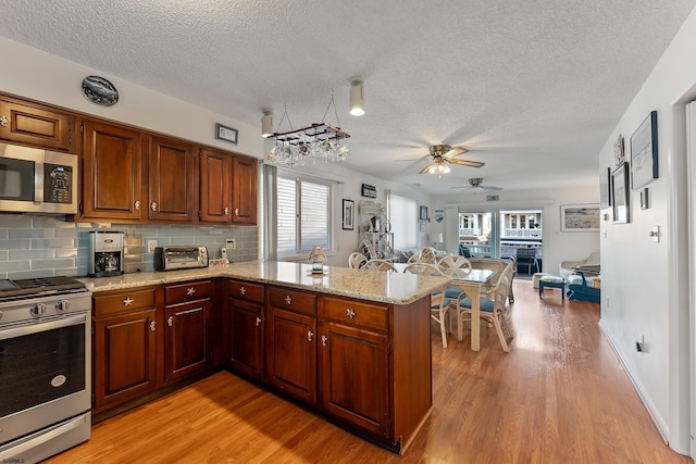
M91 293L70 277L0 279L0 463L34 463L91 430Z

